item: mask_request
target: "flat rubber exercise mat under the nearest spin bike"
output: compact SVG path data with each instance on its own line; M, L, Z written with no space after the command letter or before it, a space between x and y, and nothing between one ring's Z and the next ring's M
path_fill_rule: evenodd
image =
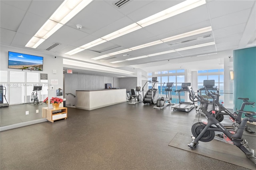
M255 170L256 166L254 163L247 158L244 152L242 152L238 147L232 144L212 140L210 142L199 141L196 148L191 149L188 147L188 144L192 142L192 138L190 136L191 135L189 134L177 133L171 140L169 146Z

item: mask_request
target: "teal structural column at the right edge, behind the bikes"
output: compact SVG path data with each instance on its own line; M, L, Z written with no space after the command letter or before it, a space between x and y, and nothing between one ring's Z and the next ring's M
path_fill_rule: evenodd
M237 49L234 57L234 111L240 109L242 100L247 97L256 102L256 47ZM246 111L256 111L256 107L246 106Z

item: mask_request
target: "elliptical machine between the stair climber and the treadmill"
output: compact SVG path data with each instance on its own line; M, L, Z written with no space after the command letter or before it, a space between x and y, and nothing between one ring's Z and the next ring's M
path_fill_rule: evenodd
M173 83L166 83L166 87L164 87L164 91L166 92L166 100L164 99L164 97L159 98L156 101L156 106L154 106L154 108L164 109L164 107L172 103L172 87L173 87ZM167 96L167 93L168 93L168 96Z

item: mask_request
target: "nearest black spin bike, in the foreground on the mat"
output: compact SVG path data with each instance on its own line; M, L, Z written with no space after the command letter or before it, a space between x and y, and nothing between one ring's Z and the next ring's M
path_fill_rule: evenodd
M188 144L188 147L194 149L198 145L199 140L202 142L210 142L211 140L214 139L216 131L222 132L224 135L226 135L227 138L230 139L230 141L233 142L234 145L240 148L240 150L242 150L244 154L256 165L256 157L254 154L254 150L249 148L248 142L244 138L242 138L242 134L244 132L244 128L246 126L247 121L256 122L256 118L253 117L256 115L256 112L238 111L244 113L246 117L242 120L236 132L230 132L222 124L220 124L219 121L215 119L215 111L207 111L208 105L211 104L210 101L205 100L203 97L199 95L195 95L191 86L188 86L188 91L192 99L197 99L198 101L203 103L202 112L206 115L206 118L208 119L207 124L195 123L194 125L192 125L191 131L193 136L191 137L193 141L190 144Z

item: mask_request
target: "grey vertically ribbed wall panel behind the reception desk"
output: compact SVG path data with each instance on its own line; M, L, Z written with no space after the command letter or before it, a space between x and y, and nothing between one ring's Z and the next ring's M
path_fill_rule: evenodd
M104 89L104 75L78 73L78 90L94 91Z

